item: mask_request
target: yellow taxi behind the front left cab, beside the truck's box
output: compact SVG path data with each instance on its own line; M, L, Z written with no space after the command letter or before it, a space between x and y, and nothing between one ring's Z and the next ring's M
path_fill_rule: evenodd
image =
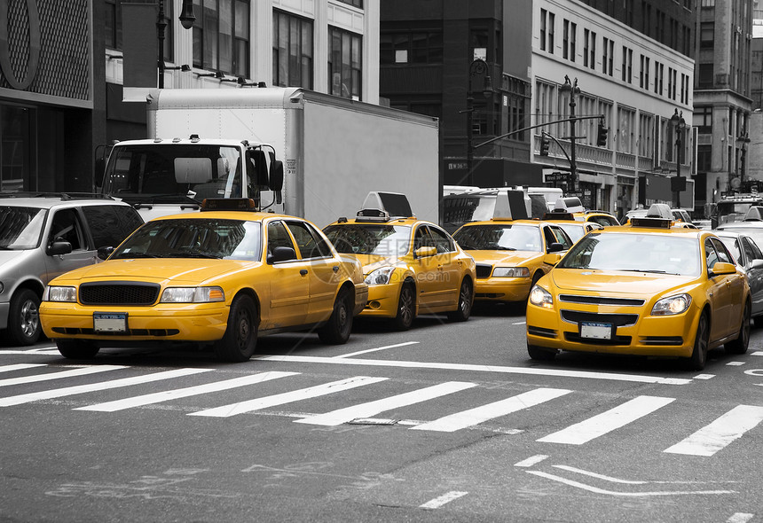
M405 195L371 192L353 219L323 230L363 266L368 302L360 317L388 318L406 330L419 314L466 321L474 302L475 261L435 223L413 216Z

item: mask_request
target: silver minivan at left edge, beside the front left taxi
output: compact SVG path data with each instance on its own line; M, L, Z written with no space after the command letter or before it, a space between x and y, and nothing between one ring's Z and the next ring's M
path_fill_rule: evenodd
M99 194L0 194L0 329L16 345L39 340L45 285L68 270L100 262L143 223L133 207Z

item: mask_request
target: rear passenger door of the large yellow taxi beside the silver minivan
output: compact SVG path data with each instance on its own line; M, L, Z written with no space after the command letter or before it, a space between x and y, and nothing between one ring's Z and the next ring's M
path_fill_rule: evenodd
M309 223L289 220L287 227L308 270L307 323L326 321L334 311L334 296L340 281L339 263L326 241Z

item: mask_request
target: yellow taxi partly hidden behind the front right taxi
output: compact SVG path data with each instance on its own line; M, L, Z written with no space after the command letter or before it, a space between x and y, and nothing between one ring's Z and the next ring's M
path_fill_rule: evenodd
M496 202L492 220L465 223L453 238L475 259L475 300L496 302L527 300L573 243L561 227L526 219L508 199Z

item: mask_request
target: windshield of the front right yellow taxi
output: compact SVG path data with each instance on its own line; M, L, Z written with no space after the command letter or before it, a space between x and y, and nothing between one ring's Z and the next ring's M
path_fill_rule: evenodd
M700 260L696 238L592 232L578 241L556 267L699 276Z

